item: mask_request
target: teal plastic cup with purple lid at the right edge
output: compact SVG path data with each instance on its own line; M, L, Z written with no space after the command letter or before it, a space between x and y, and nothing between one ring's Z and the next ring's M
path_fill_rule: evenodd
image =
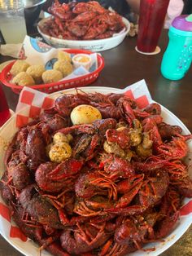
M185 76L192 61L192 15L180 15L168 31L168 47L161 63L161 73L170 80Z

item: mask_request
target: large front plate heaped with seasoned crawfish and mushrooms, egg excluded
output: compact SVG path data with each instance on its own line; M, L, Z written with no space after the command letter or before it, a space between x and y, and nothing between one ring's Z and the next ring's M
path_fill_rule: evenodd
M192 223L191 206L183 210L192 197L190 131L167 108L152 102L139 109L115 88L50 97L55 106L28 126L16 130L11 117L0 130L0 203L29 239L9 237L0 216L2 236L30 256L39 249L57 256L168 249ZM70 114L82 104L102 119L73 125Z

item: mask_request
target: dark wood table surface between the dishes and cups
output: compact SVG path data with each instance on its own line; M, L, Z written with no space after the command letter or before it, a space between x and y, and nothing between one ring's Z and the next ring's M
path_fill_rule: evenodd
M151 92L152 98L164 105L183 121L192 131L192 67L180 81L170 81L162 77L160 64L168 44L168 31L164 30L159 39L161 52L158 55L142 55L135 51L136 38L125 38L124 42L108 51L101 52L105 59L105 67L98 80L91 86L110 86L124 88L141 79ZM10 57L0 55L0 63L11 60ZM13 110L18 102L10 88L3 86L7 101ZM19 256L11 245L0 237L0 256ZM192 227L181 237L175 245L165 251L161 256L190 256L192 255ZM36 256L36 255L34 255Z

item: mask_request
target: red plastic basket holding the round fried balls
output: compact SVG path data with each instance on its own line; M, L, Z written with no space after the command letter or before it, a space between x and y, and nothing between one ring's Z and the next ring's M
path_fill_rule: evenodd
M66 49L65 51L67 51L70 54L78 54L78 53L92 54L93 53L92 51L79 50L79 49ZM98 68L94 70L94 72L92 73L86 74L81 77L60 81L60 82L52 82L49 84L30 86L30 88L41 90L42 92L50 94L58 90L64 90L64 89L79 87L79 86L88 86L90 83L94 82L98 78L99 73L104 68L103 57L101 55L97 55L97 57L98 57ZM15 63L15 60L11 62L11 64L8 64L5 68L2 69L2 73L0 74L0 80L4 86L11 87L11 89L16 94L20 94L20 91L23 89L23 86L16 86L15 84L12 84L10 82L12 79L10 70L14 63Z

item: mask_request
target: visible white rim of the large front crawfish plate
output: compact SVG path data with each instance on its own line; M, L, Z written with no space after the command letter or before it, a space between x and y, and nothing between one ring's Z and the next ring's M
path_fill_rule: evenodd
M107 93L122 93L124 90L120 90L117 88L111 88L111 87L82 87L79 88L82 91L85 91L87 93L89 92L99 92L103 94ZM76 93L76 90L74 89L68 89L68 90L63 90L59 92L55 92L51 95L49 95L52 99L55 99L59 97L59 95L62 95L63 93ZM171 113L167 108L162 107L162 117L164 118L164 121L167 122L168 124L171 125L177 125L181 126L183 130L183 134L187 135L190 134L190 131L185 127L185 125L181 122L180 119L178 119L173 113ZM8 143L11 141L13 135L15 135L16 129L15 129L15 116L11 117L1 128L0 130L0 156L3 159L4 153L5 153L5 148L4 148L4 143ZM189 154L188 157L186 157L186 163L190 164L192 159L192 142L188 143L189 145ZM0 175L2 175L4 170L4 166L2 161L0 162ZM192 168L190 168L190 174L192 175ZM189 198L185 198L184 200L184 205L187 204L190 201ZM0 197L0 202L3 203L2 198ZM157 256L159 254L162 254L166 249L168 249L171 245L173 245L190 227L190 224L192 223L192 214L188 214L185 216L182 216L180 219L180 222L177 223L177 227L172 231L172 233L164 238L164 242L155 242L146 245L145 248L151 248L155 246L155 251L152 252L144 252L144 251L136 251L133 254L129 254L131 256ZM20 241L18 238L11 238L9 236L9 228L10 228L10 223L7 222L5 218L2 218L0 215L0 232L2 236L9 242L15 249L19 250L20 253L26 255L26 256L34 256L38 255L38 245L33 243L33 241ZM48 256L50 255L46 250L43 250L41 253L42 256Z

